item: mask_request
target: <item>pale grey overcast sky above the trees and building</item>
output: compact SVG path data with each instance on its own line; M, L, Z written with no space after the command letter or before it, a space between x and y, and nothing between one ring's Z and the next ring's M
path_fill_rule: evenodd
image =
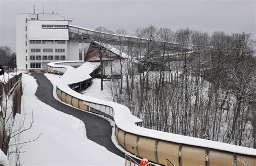
M57 0L0 0L0 46L16 50L16 13L57 11ZM91 0L58 1L59 15L74 17L73 25L95 29L104 26L116 31L125 28L132 32L137 27L150 24L172 30L190 27L212 33L213 31L252 33L256 40L256 4L254 0L201 0L201 1L125 1Z

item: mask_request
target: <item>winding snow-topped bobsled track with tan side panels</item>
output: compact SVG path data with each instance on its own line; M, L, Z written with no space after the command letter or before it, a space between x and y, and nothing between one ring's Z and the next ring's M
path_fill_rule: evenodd
M174 165L256 165L256 149L139 127L136 124L142 120L126 106L80 94L97 67L97 63L65 61L48 63L46 70L63 74L56 84L62 102L113 119L117 141L130 153L164 165L166 158Z

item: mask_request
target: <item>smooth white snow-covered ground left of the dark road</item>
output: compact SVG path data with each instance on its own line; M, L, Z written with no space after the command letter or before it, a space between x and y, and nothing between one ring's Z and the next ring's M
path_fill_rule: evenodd
M19 135L18 142L26 143L21 151L24 165L123 165L124 159L110 153L86 138L85 125L79 119L44 104L35 96L37 83L30 75L23 75L24 93L22 112L15 125L20 125L26 114L25 127L30 125L33 110L33 127ZM10 144L14 140L11 140ZM15 161L10 161L15 164Z

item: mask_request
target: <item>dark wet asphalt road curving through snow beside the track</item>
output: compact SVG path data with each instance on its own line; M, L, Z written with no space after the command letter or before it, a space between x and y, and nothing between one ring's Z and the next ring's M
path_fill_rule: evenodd
M112 142L112 126L109 121L95 116L93 114L77 110L73 107L60 103L53 95L53 86L51 82L44 76L44 73L31 73L36 78L39 85L36 90L36 96L42 102L50 105L56 110L70 114L82 120L85 124L86 135L89 140L104 146L107 150L111 151L118 156L125 157L125 154L119 150Z

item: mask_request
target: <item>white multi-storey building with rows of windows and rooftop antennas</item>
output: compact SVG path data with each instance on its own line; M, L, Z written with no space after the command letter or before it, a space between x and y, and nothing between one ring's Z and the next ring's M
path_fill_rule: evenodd
M41 70L51 61L79 60L79 41L69 41L71 21L57 14L17 14L18 70Z

